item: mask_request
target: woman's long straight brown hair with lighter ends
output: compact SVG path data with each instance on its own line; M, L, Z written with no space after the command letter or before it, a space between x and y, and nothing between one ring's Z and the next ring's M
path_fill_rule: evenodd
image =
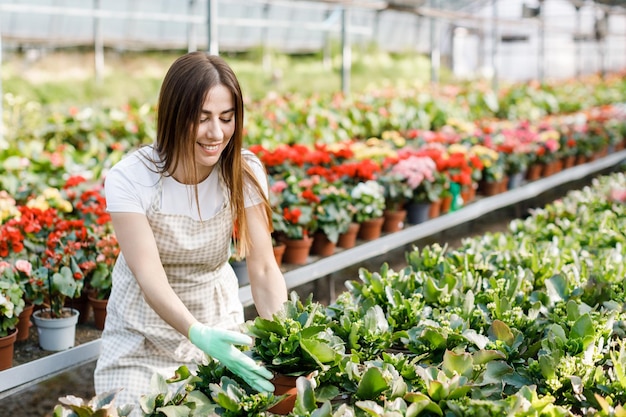
M244 105L237 76L221 57L204 52L191 52L179 57L170 67L159 94L157 107L156 151L159 155L161 173L174 172L181 164L185 178L194 184L198 211L199 178L196 171L194 147L202 106L211 88L223 85L233 95L235 105L235 132L220 157L222 178L230 195L234 230L237 231L235 249L243 257L250 247L250 234L246 227L244 206L244 183L263 201L267 226L272 230L271 207L258 183L254 172L241 155L243 147Z

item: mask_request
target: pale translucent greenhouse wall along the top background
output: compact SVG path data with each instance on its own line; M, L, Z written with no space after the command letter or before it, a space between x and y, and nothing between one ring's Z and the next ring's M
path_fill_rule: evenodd
M208 1L0 0L0 33L7 53L90 47L98 21L94 13L99 13L107 48L206 50ZM362 0L349 9L347 30L354 47L375 43L388 51L426 55L436 49L459 77L567 78L626 67L623 7L585 1L577 14L574 0L544 0L538 16L524 17L524 10L539 8L537 0L427 0L412 3L438 8L377 10L381 3ZM309 53L341 40L342 8L332 2L215 4L220 51L265 46ZM597 38L605 12L605 36Z

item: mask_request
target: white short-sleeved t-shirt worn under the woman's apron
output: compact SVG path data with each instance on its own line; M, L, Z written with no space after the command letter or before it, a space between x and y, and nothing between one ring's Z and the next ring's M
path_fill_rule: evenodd
M267 196L267 175L263 165L256 155L248 150L243 150L242 156L254 171ZM111 168L104 182L107 211L147 213L160 178L151 160L158 160L156 152L153 146L146 146L129 154ZM224 204L224 193L218 179L218 170L214 169L198 184L198 200L203 220L213 217ZM248 186L244 187L244 194L245 207L261 202ZM200 220L193 186L181 184L171 176L164 176L161 212L182 214Z

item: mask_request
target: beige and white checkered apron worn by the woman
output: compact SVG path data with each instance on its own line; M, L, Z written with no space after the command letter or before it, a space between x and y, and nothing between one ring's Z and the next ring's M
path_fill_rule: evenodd
M160 212L159 181L147 217L176 294L198 321L234 330L243 323L244 315L237 277L228 263L233 222L221 177L220 185L225 193L224 206L214 217L197 221ZM183 364L194 371L194 364L205 358L146 303L121 254L113 269L113 289L101 340L95 390L100 394L124 388L116 397L118 406L136 404L142 394L149 394L155 373L168 378Z

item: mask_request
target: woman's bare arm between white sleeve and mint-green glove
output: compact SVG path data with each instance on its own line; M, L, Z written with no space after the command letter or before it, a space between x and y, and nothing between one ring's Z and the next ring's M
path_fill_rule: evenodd
M159 257L154 234L144 214L111 213L115 235L143 295L152 309L187 337L197 320L174 292Z

